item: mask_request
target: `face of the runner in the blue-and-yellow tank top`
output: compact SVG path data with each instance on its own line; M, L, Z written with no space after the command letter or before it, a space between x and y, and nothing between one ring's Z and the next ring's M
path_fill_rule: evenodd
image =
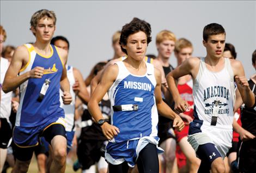
M32 27L32 32L39 40L51 41L55 28L52 18L42 17L36 24L35 29Z

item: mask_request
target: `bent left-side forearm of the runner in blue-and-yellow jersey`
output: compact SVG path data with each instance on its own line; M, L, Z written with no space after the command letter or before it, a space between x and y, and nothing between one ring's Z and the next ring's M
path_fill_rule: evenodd
M13 78L5 77L3 82L3 91L5 93L15 90L17 87L19 87L23 82L27 81L29 79L30 73L26 72L22 74L21 76L16 76Z

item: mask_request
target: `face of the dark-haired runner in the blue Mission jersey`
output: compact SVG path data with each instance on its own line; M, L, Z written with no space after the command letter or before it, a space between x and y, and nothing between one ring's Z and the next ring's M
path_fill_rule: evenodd
M127 51L128 57L135 60L144 59L147 47L147 35L142 31L129 35L127 38L127 44L123 45L123 48Z

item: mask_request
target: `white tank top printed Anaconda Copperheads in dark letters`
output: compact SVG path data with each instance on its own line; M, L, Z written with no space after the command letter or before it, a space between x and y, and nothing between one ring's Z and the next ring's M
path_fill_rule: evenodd
M194 117L210 126L215 103L217 107L216 127L232 128L235 101L234 73L230 60L224 58L224 68L212 72L205 65L205 58L200 59L196 79L193 80ZM217 101L217 102L216 102Z

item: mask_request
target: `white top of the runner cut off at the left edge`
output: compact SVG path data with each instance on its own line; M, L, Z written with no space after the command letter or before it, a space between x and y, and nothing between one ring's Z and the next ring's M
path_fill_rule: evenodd
M4 76L9 67L9 62L7 59L1 57L1 86L4 82ZM11 97L13 92L4 93L1 87L1 118L5 118L9 121L9 117L11 114Z

